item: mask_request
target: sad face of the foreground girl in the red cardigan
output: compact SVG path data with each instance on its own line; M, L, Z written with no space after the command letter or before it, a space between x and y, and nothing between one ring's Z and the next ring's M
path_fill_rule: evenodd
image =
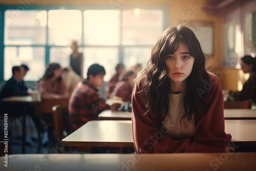
M168 68L168 77L174 82L185 81L193 69L195 58L188 52L187 46L181 42L174 54L164 57Z

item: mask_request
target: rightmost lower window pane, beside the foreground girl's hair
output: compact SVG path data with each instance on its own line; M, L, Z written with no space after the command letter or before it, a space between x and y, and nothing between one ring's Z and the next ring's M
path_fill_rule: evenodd
M151 49L151 47L124 48L123 63L125 68L129 70L137 64L140 64L142 68L144 68L147 61L150 59Z

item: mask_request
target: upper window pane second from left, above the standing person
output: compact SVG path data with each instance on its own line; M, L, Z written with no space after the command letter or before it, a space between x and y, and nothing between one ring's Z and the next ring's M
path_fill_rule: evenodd
M80 40L82 14L79 10L50 10L48 17L49 44L67 46Z

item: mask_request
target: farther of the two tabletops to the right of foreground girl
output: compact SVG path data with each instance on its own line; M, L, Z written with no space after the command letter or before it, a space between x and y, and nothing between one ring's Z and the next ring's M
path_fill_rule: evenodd
M256 119L256 110L224 109L225 119Z

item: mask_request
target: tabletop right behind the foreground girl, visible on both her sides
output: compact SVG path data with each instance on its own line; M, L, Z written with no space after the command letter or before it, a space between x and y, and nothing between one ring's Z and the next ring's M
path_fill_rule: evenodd
M231 145L256 145L256 120L225 120ZM90 121L62 141L67 146L133 147L132 121Z

